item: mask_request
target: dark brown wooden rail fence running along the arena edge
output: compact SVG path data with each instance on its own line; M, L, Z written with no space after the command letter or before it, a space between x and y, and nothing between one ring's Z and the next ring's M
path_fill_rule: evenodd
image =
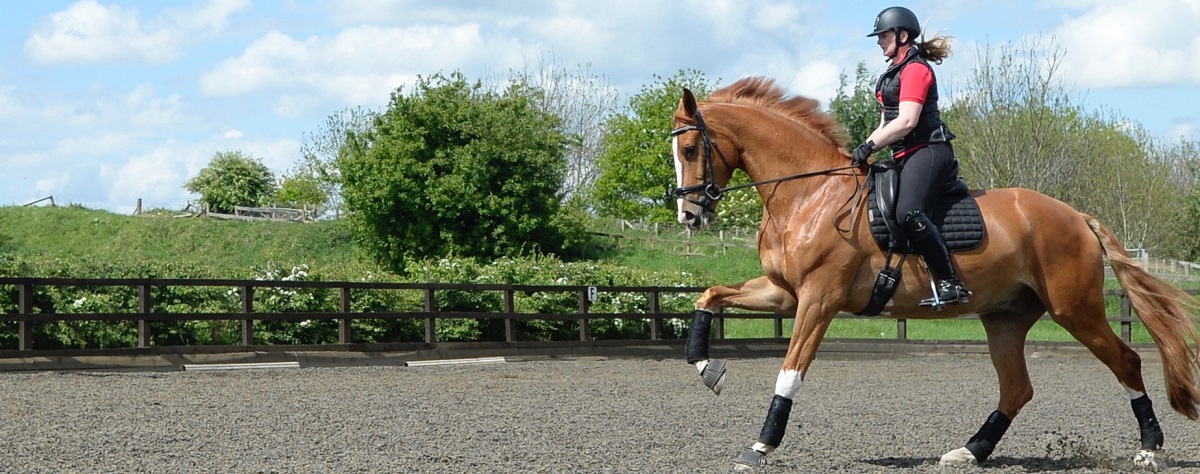
M516 320L577 320L580 323L580 341L590 340L589 320L595 319L649 319L652 341L662 338L661 326L665 319L685 318L690 322L691 313L662 312L661 298L664 294L698 294L704 287L617 287L617 286L518 286L518 284L455 284L455 283L385 283L385 282L311 282L311 281L263 281L263 280L191 280L191 278L34 278L34 277L0 277L0 286L14 286L18 288L16 313L0 314L0 322L16 322L19 332L19 350L32 350L34 325L41 323L67 322L67 320L101 320L101 322L137 322L138 347L151 346L150 322L179 322L179 320L238 320L241 328L241 344L254 344L256 320L337 320L340 344L352 342L352 322L355 319L421 319L425 322L425 342L436 343L437 320L443 318L462 319L503 319L505 329L505 341L516 341ZM137 313L37 313L35 312L34 294L35 287L127 287L137 288L138 312ZM164 313L154 311L152 288L157 287L227 287L236 288L241 312L211 313ZM257 288L325 288L338 292L340 308L336 312L277 312L260 313L254 311L254 292ZM403 289L420 290L424 293L424 308L421 311L407 312L354 312L354 290L364 289ZM500 312L475 312L475 311L439 311L438 292L502 292L503 311ZM574 293L577 295L578 306L574 313L518 313L514 308L514 295L516 293ZM590 302L600 293L636 293L648 296L646 312L637 313L592 313L588 311ZM1196 290L1189 290L1196 294ZM1133 316L1128 298L1121 290L1106 290L1106 295L1121 298L1121 312L1118 316L1110 316L1110 322L1121 324L1121 337L1124 341L1132 340L1132 324L1138 319ZM864 318L852 314L838 314L839 318ZM1043 317L1046 318L1046 317ZM725 338L726 319L773 319L774 337L784 337L784 322L790 320L790 316L773 313L722 313L715 318L716 340ZM896 338L907 340L907 320L896 319Z

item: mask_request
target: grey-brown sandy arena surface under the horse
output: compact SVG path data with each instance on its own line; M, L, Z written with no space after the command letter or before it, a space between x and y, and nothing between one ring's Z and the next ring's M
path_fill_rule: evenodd
M714 354L716 355L716 354ZM2 473L727 473L780 359L730 360L721 396L680 360L0 373ZM937 458L997 398L986 358L816 361L770 473L1110 473L1138 426L1091 358L1030 361L1037 395L983 467ZM1168 473L1200 473L1200 422L1144 373ZM1163 457L1160 455L1160 457Z

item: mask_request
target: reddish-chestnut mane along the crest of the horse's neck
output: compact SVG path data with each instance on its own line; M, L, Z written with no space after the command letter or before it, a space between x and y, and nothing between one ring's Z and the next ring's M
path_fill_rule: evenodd
M846 127L821 112L821 102L803 96L787 96L775 79L748 77L713 91L706 102L721 102L763 108L786 116L808 128L839 150L846 150Z

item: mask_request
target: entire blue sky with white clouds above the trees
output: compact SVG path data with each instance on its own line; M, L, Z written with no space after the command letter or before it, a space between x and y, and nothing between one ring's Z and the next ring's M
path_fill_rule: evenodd
M115 212L181 209L215 152L276 173L306 133L379 109L418 76L486 78L539 58L588 66L623 97L682 68L774 77L827 102L838 76L884 66L881 1L22 1L0 16L0 205L46 196ZM1163 139L1200 140L1200 0L919 0L955 37L937 67L965 84L977 53L1043 44L1085 107ZM946 94L946 92L943 92ZM949 97L953 100L953 96ZM665 146L665 144L664 144Z

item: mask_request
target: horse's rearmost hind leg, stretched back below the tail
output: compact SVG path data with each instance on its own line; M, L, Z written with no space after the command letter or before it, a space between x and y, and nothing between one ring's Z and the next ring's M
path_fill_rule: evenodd
M1154 451L1163 448L1163 430L1154 415L1154 406L1146 394L1141 377L1141 356L1112 332L1105 318L1104 296L1099 292L1092 293L1094 295L1076 299L1076 304L1051 308L1050 314L1075 340L1087 347L1092 355L1104 362L1124 386L1141 430L1141 449L1134 456L1134 463L1154 467L1157 466Z

